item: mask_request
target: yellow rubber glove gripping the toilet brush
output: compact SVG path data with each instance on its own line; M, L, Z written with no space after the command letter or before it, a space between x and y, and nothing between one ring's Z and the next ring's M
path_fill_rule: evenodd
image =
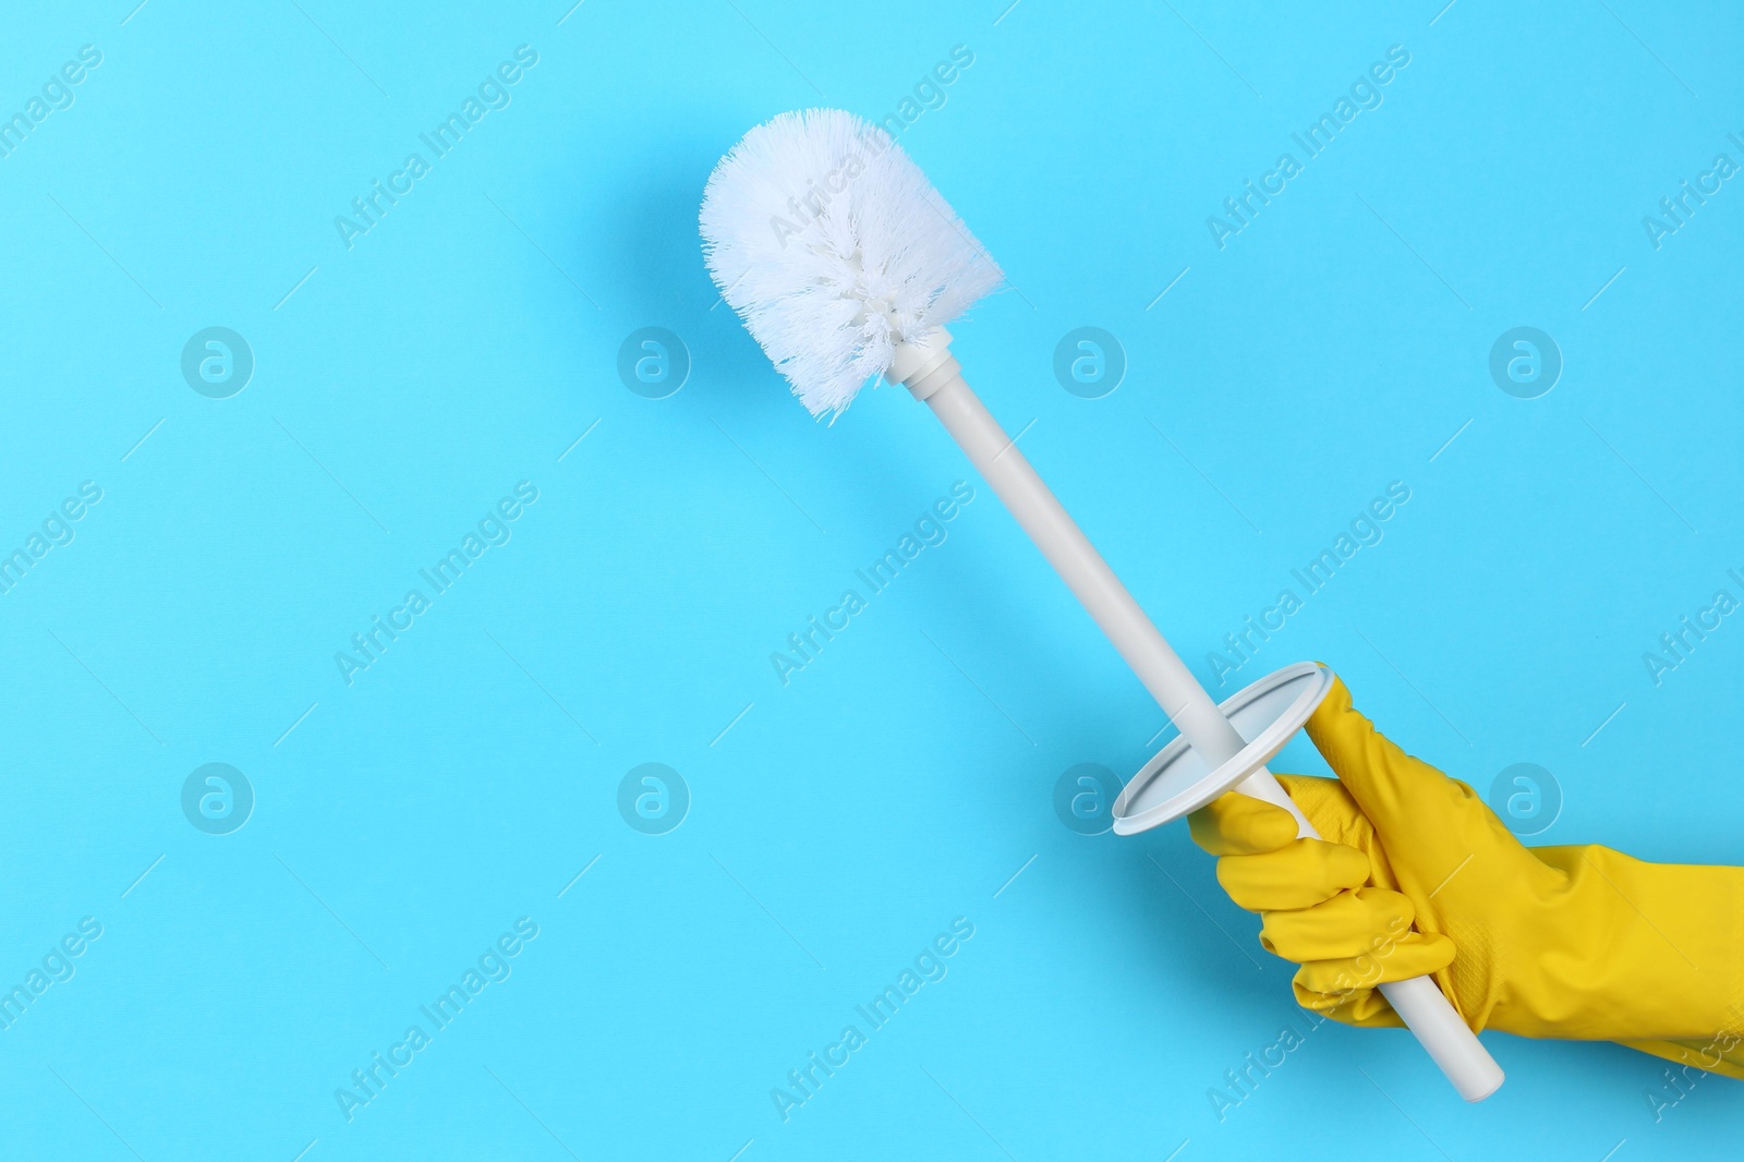
M1325 841L1235 792L1191 817L1261 944L1301 965L1303 1007L1397 1026L1374 986L1434 974L1472 1029L1622 1042L1744 1078L1744 869L1521 846L1468 785L1376 733L1343 680L1308 736L1338 780L1278 780Z

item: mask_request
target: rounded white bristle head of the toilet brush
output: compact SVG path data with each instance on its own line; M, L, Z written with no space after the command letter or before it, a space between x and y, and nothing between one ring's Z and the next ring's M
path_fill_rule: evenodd
M794 394L830 419L1003 281L884 129L814 108L757 126L703 194L703 256Z

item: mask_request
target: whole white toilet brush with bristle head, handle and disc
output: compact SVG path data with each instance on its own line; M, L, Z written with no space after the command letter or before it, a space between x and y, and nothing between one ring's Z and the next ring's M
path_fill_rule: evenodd
M841 110L781 113L708 178L703 249L727 304L794 394L830 419L882 375L924 401L1181 729L1127 785L1114 830L1132 834L1224 790L1275 803L1318 837L1266 769L1331 686L1299 663L1221 707L963 382L944 325L1003 276L882 129ZM1430 977L1380 986L1467 1101L1502 1070Z

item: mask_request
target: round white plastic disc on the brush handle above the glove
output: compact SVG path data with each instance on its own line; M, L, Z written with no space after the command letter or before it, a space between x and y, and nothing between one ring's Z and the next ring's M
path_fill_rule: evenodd
M1186 738L1168 740L1114 799L1114 834L1162 827L1240 783L1284 748L1329 689L1331 670L1318 661L1298 661L1231 694L1217 708L1247 745L1228 762L1207 769Z

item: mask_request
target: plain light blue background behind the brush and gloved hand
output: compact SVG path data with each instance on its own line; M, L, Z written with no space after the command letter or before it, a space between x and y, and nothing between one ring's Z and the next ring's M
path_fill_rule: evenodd
M1744 161L1734 9L133 3L12 3L0 33L7 115L103 52L0 159L0 546L105 492L0 597L0 984L105 925L0 1033L0 1155L1624 1162L1735 1138L1744 1087L1655 1122L1662 1063L1625 1049L1489 1035L1509 1083L1467 1108L1409 1038L1332 1026L1219 1124L1207 1090L1296 1012L1289 967L1184 829L1083 837L1052 808L1076 762L1135 769L1160 712L985 489L774 680L968 469L905 393L813 424L696 237L752 124L882 117L966 45L902 136L1013 283L957 352L1195 668L1406 482L1240 680L1322 658L1474 785L1552 771L1540 841L1739 862L1744 626L1659 687L1641 661L1744 567L1744 188L1660 249L1641 227ZM347 249L333 216L521 44L513 105ZM1385 105L1219 251L1207 215L1393 44ZM1087 325L1130 359L1095 401L1052 373ZM1488 373L1523 325L1566 361L1529 401ZM230 400L181 379L206 326L253 347ZM644 326L689 347L671 398L619 382ZM513 541L347 687L333 653L520 480ZM664 836L616 808L651 761L692 794ZM181 815L204 762L258 797L230 836ZM1303 743L1277 766L1318 769ZM333 1090L520 916L513 975L347 1124ZM949 975L783 1124L771 1087L956 916Z

